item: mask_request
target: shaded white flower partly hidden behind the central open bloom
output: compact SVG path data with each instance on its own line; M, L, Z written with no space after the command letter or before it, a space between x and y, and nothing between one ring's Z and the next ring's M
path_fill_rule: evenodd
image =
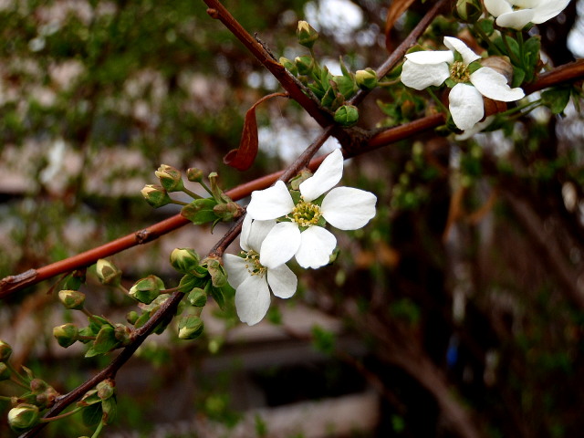
M276 221L254 221L245 215L240 245L245 257L223 256L227 281L235 288L235 308L242 322L250 326L266 316L270 307L270 289L276 297L289 298L296 292L298 280L286 265L272 268L259 261L259 249Z

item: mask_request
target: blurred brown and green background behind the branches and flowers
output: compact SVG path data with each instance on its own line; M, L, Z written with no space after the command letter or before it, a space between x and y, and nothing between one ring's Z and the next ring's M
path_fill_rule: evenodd
M391 2L225 1L276 58L306 55L296 27L318 29L317 56L339 74L387 57ZM547 67L582 56L582 2L532 33ZM397 46L427 4L388 36ZM0 277L127 235L180 207L141 196L161 163L218 172L225 189L292 162L318 135L295 102L257 109L260 153L223 164L245 111L278 83L194 0L0 1ZM427 36L445 30L443 16ZM581 90L581 83L577 84ZM422 96L422 95L421 95ZM360 127L407 121L376 90ZM205 335L152 336L117 379L119 419L104 437L572 437L584 420L584 125L579 101L539 108L504 130L457 142L426 132L346 163L343 183L378 196L365 228L338 233L339 257L299 275L248 328L213 304ZM412 119L422 117L416 108ZM339 147L328 141L324 151ZM196 187L192 187L193 190ZM111 261L130 287L179 277L175 247L206 254L220 224L187 225ZM238 245L232 245L235 252ZM134 304L88 272L88 307L115 321ZM52 286L0 303L16 363L72 390L110 358L62 349L52 328L81 318ZM52 293L51 293L52 292ZM77 348L78 347L78 348ZM11 387L0 392L11 395ZM0 401L7 412L7 404ZM5 418L5 416L4 416ZM90 435L79 418L42 436ZM16 436L0 421L1 436Z

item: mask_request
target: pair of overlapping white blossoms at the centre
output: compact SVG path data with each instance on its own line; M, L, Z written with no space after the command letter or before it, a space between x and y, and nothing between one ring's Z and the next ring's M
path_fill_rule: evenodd
M242 255L225 254L227 280L235 288L239 318L251 325L266 316L270 289L276 297L292 297L297 277L286 263L294 257L299 266L328 265L337 238L326 228L357 230L375 215L373 193L352 187L335 187L343 172L343 156L333 151L318 170L288 191L284 182L255 191L247 206L240 245Z

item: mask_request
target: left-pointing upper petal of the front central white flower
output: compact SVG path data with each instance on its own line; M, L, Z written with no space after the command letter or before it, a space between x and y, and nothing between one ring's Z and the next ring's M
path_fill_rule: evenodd
M252 200L247 205L247 214L252 219L266 221L285 216L293 208L294 202L286 184L277 181L276 184L266 190L255 190L252 192Z

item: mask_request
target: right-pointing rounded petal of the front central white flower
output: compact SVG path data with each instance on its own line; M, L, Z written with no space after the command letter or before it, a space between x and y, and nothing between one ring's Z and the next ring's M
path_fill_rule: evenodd
M339 230L357 230L375 215L377 197L370 192L352 187L332 189L320 207L328 224Z

